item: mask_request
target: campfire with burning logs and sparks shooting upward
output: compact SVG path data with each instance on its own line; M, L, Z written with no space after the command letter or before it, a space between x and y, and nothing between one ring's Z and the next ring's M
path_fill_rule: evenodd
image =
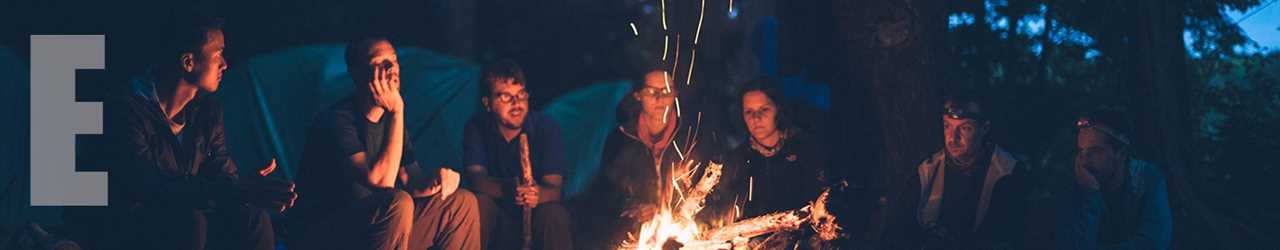
M667 90L671 90L672 81L680 81L677 71L681 69L681 44L687 40L681 40L680 32L675 32L667 27L667 1L663 0L659 4L659 14L662 15L660 35L663 41L662 62L673 63L669 73L664 74ZM730 9L733 9L732 0L728 1L728 5ZM694 85L694 64L698 56L699 37L705 12L707 0L701 0L698 9L698 26L694 29L692 44L686 47L687 69L682 73L685 73L684 85L687 86ZM628 24L632 33L640 37L641 33L636 28L636 24ZM689 36L685 37L687 38ZM668 56L668 53L671 56ZM680 96L675 99L675 110L668 106L666 112L675 112L677 118L681 117ZM663 123L667 122L666 112L662 115ZM719 182L723 165L708 163L701 172L701 177L694 178L698 169L701 168L701 163L694 159L685 159L685 155L689 154L684 151L692 151L698 145L698 136L694 135L698 135L698 131L700 131L701 113L698 113L696 121L695 126L689 128L691 133L687 133L689 137L685 140L687 145L673 144L681 160L680 163L669 163L669 168L672 168L669 179L660 179L660 183L655 185L658 188L655 190L658 192L658 204L653 204L657 206L653 218L643 223L635 233L628 233L628 240L622 242L618 249L746 249L748 242L753 237L773 232L797 231L803 229L804 226L809 226L815 232L814 237L817 240L832 241L840 237L841 228L836 224L836 217L827 212L827 196L831 188L824 190L818 199L809 204L796 204L797 209L755 218L737 218L741 213L737 213L739 208L735 206L733 218L730 219L732 221L731 223L713 228L699 228L695 215L703 210L707 196L716 191L714 187ZM657 173L662 173L659 169L662 164L654 168Z

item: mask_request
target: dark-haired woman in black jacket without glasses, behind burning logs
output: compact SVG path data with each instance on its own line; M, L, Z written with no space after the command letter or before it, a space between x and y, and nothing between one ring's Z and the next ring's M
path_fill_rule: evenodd
M726 158L719 186L712 192L704 221L713 226L774 212L800 209L814 201L827 186L828 165L823 146L800 128L792 127L783 112L782 95L768 78L746 83L739 95L746 142ZM709 213L710 212L710 213ZM741 212L741 214L736 214ZM768 237L763 245L803 242L804 232ZM764 240L765 237L758 237ZM801 244L804 245L804 244Z

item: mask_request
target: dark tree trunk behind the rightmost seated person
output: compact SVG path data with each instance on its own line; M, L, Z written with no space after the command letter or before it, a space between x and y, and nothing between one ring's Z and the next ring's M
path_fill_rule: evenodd
M1130 97L1134 119L1134 142L1139 156L1164 167L1169 197L1174 210L1174 245L1190 249L1238 249L1230 232L1230 221L1201 203L1190 186L1193 159L1188 145L1193 141L1187 73L1187 50L1183 41L1185 1L1128 1L1132 22L1125 67L1124 90ZM1206 231L1212 233L1204 237Z

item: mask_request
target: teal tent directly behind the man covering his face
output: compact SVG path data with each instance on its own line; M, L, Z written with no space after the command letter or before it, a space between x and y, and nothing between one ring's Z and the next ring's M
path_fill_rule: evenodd
M285 49L232 65L219 97L232 158L244 173L276 158L292 177L315 113L353 91L344 45ZM416 47L397 50L406 128L424 165L461 163L462 126L476 108L477 67ZM242 173L242 174L244 174Z

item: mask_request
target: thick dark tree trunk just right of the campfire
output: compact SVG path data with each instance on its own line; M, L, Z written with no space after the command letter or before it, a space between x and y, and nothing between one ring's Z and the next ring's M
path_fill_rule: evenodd
M836 0L837 41L842 44L849 82L835 96L868 96L869 114L844 117L852 123L874 124L878 131L879 169L863 176L876 177L872 190L897 204L908 194L904 181L915 172L916 164L934 150L941 149L940 124L943 85L938 83L942 58L938 41L946 35L946 12L940 0ZM856 94L869 95L856 95ZM840 99L840 97L837 97ZM858 110L859 106L836 109ZM874 138L849 137L850 144ZM854 159L856 162L867 162ZM856 174L854 174L856 176ZM911 209L882 204L867 231L867 240L879 241L895 213Z

